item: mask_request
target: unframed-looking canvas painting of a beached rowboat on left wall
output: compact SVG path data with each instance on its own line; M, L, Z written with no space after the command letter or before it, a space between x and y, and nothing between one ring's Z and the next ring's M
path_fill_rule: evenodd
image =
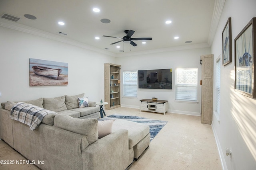
M29 59L29 85L68 85L68 63Z

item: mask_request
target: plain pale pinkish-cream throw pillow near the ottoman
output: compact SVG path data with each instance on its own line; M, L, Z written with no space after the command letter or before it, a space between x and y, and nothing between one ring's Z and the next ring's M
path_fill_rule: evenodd
M113 125L114 121L115 121L115 119L98 121L99 139L112 133L112 125Z

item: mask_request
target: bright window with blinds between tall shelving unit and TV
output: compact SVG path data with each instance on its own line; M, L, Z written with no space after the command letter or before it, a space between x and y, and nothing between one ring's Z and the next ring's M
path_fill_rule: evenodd
M137 97L137 71L123 72L123 96Z

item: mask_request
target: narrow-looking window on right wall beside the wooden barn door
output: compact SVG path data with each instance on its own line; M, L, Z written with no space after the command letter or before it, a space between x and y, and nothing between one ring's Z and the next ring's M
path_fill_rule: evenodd
M220 59L216 61L215 76L215 108L214 111L220 114Z

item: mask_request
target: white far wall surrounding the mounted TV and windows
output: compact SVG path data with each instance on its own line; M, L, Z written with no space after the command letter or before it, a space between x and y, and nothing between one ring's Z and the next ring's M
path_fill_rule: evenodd
M126 70L138 71L172 68L172 90L138 89L138 98L122 98L121 106L139 108L141 99L151 99L152 97L156 97L159 100L168 100L169 112L200 115L201 86L199 85L199 82L202 77L202 66L200 64L200 56L204 54L210 54L210 48L187 49L179 51L168 51L162 53L136 55L129 57L118 57L116 59L116 63L122 65L121 72ZM197 104L174 102L176 68L198 68Z

